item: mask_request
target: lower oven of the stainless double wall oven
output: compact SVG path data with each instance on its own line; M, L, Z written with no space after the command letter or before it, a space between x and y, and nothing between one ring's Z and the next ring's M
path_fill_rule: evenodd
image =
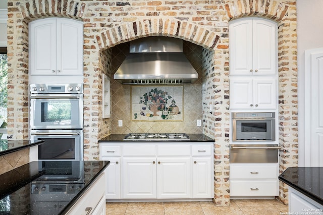
M83 130L31 130L30 139L45 141L38 160L83 160Z

